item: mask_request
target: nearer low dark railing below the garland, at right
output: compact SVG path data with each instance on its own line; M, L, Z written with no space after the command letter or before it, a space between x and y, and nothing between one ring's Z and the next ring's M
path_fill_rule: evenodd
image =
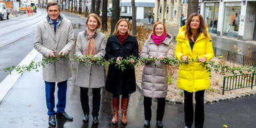
M253 73L224 77L222 95L224 95L224 91L242 89L246 87L251 87L251 89L253 89L253 86L256 86L255 74Z

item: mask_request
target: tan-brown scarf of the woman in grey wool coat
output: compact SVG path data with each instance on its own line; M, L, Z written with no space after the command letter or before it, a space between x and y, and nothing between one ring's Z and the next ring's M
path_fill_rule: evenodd
M88 39L87 47L85 49L85 55L96 55L96 45L94 39L94 37L96 36L95 32L91 32L87 27L85 33Z

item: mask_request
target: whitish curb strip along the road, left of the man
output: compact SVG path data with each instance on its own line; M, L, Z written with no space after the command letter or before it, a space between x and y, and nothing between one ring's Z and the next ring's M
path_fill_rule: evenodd
M29 54L27 54L27 56L19 63L19 66L23 66L23 65L29 65L29 63L31 63L31 61L33 61L33 59L35 59L35 57L37 56L38 51L36 51L35 49L33 49ZM13 85L16 83L16 81L19 79L19 77L21 77L21 73L18 73L17 71L13 70L11 71L11 74L7 75L7 77L5 77L5 79L3 79L3 81L0 83L0 103L3 100L3 98L5 97L5 95L7 95L7 93L9 92L9 90L11 89L11 87L13 87Z

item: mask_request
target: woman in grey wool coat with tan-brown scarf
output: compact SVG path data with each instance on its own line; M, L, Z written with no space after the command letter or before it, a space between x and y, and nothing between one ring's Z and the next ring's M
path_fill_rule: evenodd
M86 21L86 29L79 33L77 37L77 46L75 48L75 55L81 57L85 66L78 64L76 85L80 87L80 99L84 113L83 122L89 120L89 103L88 103L88 89L93 89L93 124L99 123L99 106L101 102L101 87L105 85L104 66L93 63L88 65L82 59L84 55L93 55L93 57L100 57L103 59L105 56L106 40L105 35L97 29L101 27L99 17L91 13Z

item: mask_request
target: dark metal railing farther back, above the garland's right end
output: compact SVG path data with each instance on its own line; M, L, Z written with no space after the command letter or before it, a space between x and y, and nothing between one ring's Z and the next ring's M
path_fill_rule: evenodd
M239 65L248 65L256 67L256 59L248 57L246 55L241 55L238 53L234 53L232 51L227 51L224 49L219 49L217 47L213 47L215 57L223 56L227 61L235 62Z

